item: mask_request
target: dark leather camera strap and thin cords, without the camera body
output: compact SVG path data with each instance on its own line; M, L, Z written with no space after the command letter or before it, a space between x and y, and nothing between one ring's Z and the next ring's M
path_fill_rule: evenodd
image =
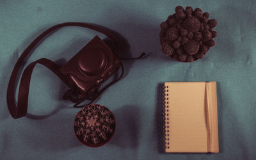
M53 31L55 29L62 28L62 27L65 27L65 26L79 26L79 27L89 28L89 29L93 29L95 31L99 31L100 33L103 33L104 35L106 35L109 38L111 38L111 40L113 40L113 42L115 43L116 48L118 47L118 39L115 36L113 36L111 33L109 33L108 31L106 31L106 29L102 29L102 28L99 28L97 26L93 26L92 24L87 24L87 23L83 23L83 22L66 22L66 23L58 24L56 26L52 26L51 28L49 28L46 31L44 31L35 40L33 40L33 42L31 42L31 44L29 44L29 46L25 49L24 52L22 52L22 54L20 55L19 59L15 63L15 66L14 66L14 68L12 70L12 74L10 76L10 80L9 80L9 83L8 83L6 100L7 100L8 109L9 109L10 114L12 115L13 118L15 118L15 119L16 118L20 118L22 116L25 116L26 113L27 113L27 110L28 110L29 84L30 84L33 68L35 67L36 64L44 65L45 67L49 68L52 72L54 72L54 74L56 74L58 77L60 77L60 79L64 83L67 84L67 77L65 75L61 74L61 72L59 70L60 66L57 65L56 63L54 63L51 60L48 60L46 58L41 58L40 60L37 60L37 61L35 61L33 63L30 63L28 65L28 67L26 67L24 72L22 73L22 77L21 77L21 80L20 80L20 86L19 86L19 93L18 93L17 104L15 102L15 81L16 81L16 78L18 76L18 73L19 73L19 70L20 70L20 67L21 67L23 61L28 56L29 52L33 49L33 47L35 47L36 44L40 40L42 40L42 38L44 38L44 36L46 36L47 34L51 33L51 31ZM141 58L144 55L145 55L145 53L141 54L141 56L138 57L138 58ZM125 60L125 58L120 58L120 59L124 59ZM134 59L136 59L136 58L134 58ZM120 80L120 78L124 74L124 67L122 66L122 63L121 63L121 67L122 67L122 74L121 74L121 76L118 77L118 79L116 79L116 80L112 81L111 83L109 83L107 86L105 86L97 94L97 97L99 97L99 95L102 92L104 92L104 90L106 90L106 88L111 86L116 81ZM97 97L95 97L95 99L97 99ZM81 102L83 102L83 100ZM79 102L79 103L81 103L81 102ZM77 103L77 104L79 104L79 103Z

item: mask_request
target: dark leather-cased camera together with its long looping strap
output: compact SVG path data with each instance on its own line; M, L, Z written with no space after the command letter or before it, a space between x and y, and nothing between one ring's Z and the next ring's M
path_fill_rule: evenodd
M36 46L36 44L49 34L54 29L58 29L65 26L79 26L83 28L90 28L95 31L99 31L104 35L108 36L111 40L111 46L107 45L99 36L95 36L88 44L86 44L81 51L73 56L65 65L60 67L56 63L46 58L37 60L26 67L22 73L19 87L19 95L17 104L15 103L15 80L18 76L19 69L29 52ZM60 77L60 79L67 84L70 89L65 92L63 99L71 100L77 104L83 102L83 100L93 100L99 97L100 93L104 92L111 84L115 83L122 77L124 68L120 58L116 56L118 49L118 39L113 36L106 29L102 29L99 26L87 24L83 22L67 22L58 24L47 29L38 36L31 44L25 49L17 60L15 67L13 68L12 75L10 77L8 88L7 88L7 105L10 114L13 118L20 118L25 116L28 109L28 94L29 94L29 83L33 68L36 64L44 65L49 68ZM122 74L117 79L114 79L111 83L104 86L99 91L100 86L109 77L111 77L118 69L122 67Z

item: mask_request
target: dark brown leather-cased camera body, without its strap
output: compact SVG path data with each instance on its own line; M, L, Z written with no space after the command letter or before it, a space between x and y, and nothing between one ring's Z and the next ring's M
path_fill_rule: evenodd
M96 99L102 83L115 74L120 65L113 50L99 36L95 36L60 68L61 74L67 76L66 83L70 87L63 99L76 103Z

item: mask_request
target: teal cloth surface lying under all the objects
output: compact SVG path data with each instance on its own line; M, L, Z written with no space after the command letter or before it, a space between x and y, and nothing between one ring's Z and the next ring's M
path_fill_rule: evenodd
M218 20L216 45L204 60L180 63L161 54L159 24L175 6L192 6ZM0 159L256 159L255 1L0 1ZM12 68L42 31L62 22L91 22L127 39L125 77L97 101L113 111L116 133L107 145L90 148L76 138L79 109L62 100L68 89L50 70L35 67L28 113L13 120L6 106ZM46 38L24 67L39 58L69 60L95 35L69 27ZM161 148L161 85L165 81L217 81L220 154L164 154Z

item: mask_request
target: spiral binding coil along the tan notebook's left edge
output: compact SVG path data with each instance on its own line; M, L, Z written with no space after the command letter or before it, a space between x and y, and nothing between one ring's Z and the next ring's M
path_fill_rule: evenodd
M163 132L164 132L164 148L169 148L169 103L168 103L168 86L163 86Z

